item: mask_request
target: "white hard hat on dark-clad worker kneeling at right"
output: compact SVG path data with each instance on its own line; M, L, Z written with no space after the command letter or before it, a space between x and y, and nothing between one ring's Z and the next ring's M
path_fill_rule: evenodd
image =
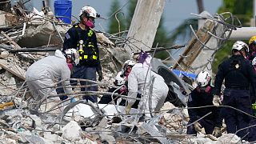
M201 71L195 78L195 81L198 86L206 86L210 83L210 78L210 74L207 71Z

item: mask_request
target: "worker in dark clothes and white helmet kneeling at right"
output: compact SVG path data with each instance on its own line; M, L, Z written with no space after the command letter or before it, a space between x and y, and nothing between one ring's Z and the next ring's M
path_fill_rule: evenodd
M212 93L213 86L210 86L211 77L206 71L201 71L196 82L198 86L190 93L188 101L188 112L190 121L187 126L187 134L197 134L201 132L202 127L205 128L206 134L213 134L215 137L221 136L222 118L220 117L220 108L211 106L204 108L193 108L199 106L210 106L214 95ZM191 109L190 109L191 107ZM209 114L211 112L211 114ZM202 118L206 114L206 118ZM202 118L196 122L199 118ZM193 125L191 125L194 123Z

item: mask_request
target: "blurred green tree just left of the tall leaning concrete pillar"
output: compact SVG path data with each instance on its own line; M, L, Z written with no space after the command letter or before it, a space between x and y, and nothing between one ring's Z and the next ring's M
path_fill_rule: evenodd
M126 30L126 19L122 11L118 10L119 8L120 8L120 2L118 0L114 0L114 2L111 4L111 9L109 13L109 16L112 16L109 21L110 23L109 23L109 30L108 30L108 33L110 34L118 33L119 26L120 26L120 31ZM117 14L118 20L115 18L115 14Z

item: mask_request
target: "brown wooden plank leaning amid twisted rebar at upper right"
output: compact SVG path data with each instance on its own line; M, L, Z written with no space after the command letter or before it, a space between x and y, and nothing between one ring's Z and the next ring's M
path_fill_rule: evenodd
M214 22L211 20L206 20L204 26L198 30L196 33L198 39L206 43L210 39L211 35L207 31L212 32L214 30ZM176 70L189 70L191 64L194 62L195 58L198 57L198 54L202 51L202 44L198 42L197 38L192 38L189 45L186 47L186 50L182 53L182 56L178 59L173 66L173 69Z

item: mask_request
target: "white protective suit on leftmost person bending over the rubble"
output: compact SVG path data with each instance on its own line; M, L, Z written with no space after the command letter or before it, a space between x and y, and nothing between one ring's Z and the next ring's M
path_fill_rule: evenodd
M26 83L35 101L41 100L45 96L56 95L57 92L53 89L54 81L70 78L70 69L67 66L66 58L61 50L56 50L54 56L42 58L38 62L34 62L26 71ZM71 93L72 89L70 81L62 82L66 94ZM58 100L59 98L53 98Z

